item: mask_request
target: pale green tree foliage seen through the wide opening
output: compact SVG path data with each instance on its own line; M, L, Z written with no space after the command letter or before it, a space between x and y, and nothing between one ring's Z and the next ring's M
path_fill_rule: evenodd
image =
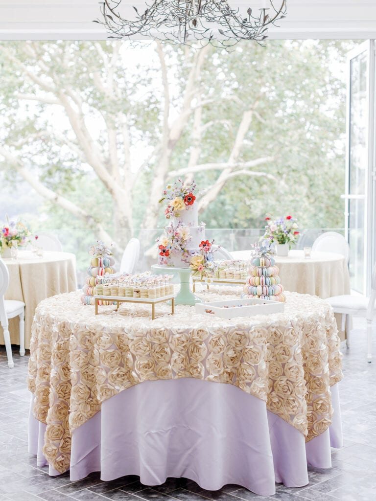
M221 49L209 50L191 102L191 109L203 103L199 164L229 161L243 114L248 110L252 111L252 121L238 160L265 156L273 156L273 160L249 169L262 172L261 176L239 175L226 182L200 215L208 227L262 227L266 212L276 216L291 213L303 227L342 226L343 75L345 54L352 46L351 42L336 41L269 41L265 48L241 43L230 54ZM107 133L109 129L116 130L118 161L122 165L126 158L119 117L126 116L132 157L130 174L134 176L139 171L127 193L133 206L129 225L141 226L150 196L160 195L149 192L159 161L166 97L154 48L142 48L140 44L132 49L126 42L108 41L0 43L0 139L45 186L91 214L114 239L119 230L125 229L113 222L118 207L106 183L97 179L93 166L82 154L82 145L67 114L61 105L51 104L56 96L48 85L58 90L58 97L68 99L74 109L82 105L80 118L99 148L109 177L112 165ZM112 65L116 51L120 51L121 57ZM183 91L196 52L164 45L163 53L171 122L184 101ZM109 72L114 74L112 87L107 85ZM41 88L39 79L45 88ZM35 99L21 99L22 94ZM186 167L193 132L191 114L172 147L170 171ZM148 159L153 148L156 153ZM16 169L2 157L1 151L0 169L7 173L9 183L19 182ZM208 188L220 174L221 169L203 170L195 178L201 188ZM267 178L266 174L274 178ZM125 187L126 175L122 179ZM47 225L84 226L53 202L48 202L48 211ZM162 212L161 207L160 225ZM95 232L95 228L90 231Z

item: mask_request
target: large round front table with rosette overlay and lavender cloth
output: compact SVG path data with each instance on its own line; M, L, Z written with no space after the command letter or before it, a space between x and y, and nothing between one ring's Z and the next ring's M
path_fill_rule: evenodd
M307 465L330 467L341 446L338 346L330 306L296 293L283 313L232 319L179 305L151 320L128 303L95 315L78 292L46 299L33 325L29 451L71 480L184 476L261 495L306 485Z

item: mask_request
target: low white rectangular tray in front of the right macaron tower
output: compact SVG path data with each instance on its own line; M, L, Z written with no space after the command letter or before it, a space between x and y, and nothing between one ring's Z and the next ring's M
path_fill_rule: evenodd
M243 305L243 306L238 306ZM228 306L229 308L223 308ZM284 303L269 301L267 299L244 298L232 299L228 301L213 301L211 303L198 303L196 312L212 317L233 318L233 317L253 317L254 315L272 315L282 313L285 309ZM212 312L210 312L210 311Z

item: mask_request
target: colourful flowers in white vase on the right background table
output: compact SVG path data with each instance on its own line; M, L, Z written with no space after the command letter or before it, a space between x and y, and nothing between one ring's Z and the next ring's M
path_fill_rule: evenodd
M299 237L297 220L290 215L274 219L269 214L265 220L265 233L261 239L277 244L277 255L288 256L291 244L296 243Z

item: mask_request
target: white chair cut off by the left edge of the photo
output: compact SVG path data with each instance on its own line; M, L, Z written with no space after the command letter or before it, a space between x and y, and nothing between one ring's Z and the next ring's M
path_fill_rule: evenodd
M13 299L4 299L9 286L9 271L0 258L0 323L3 327L8 366L14 367L11 338L9 334L9 319L20 317L20 355L25 355L25 303Z

